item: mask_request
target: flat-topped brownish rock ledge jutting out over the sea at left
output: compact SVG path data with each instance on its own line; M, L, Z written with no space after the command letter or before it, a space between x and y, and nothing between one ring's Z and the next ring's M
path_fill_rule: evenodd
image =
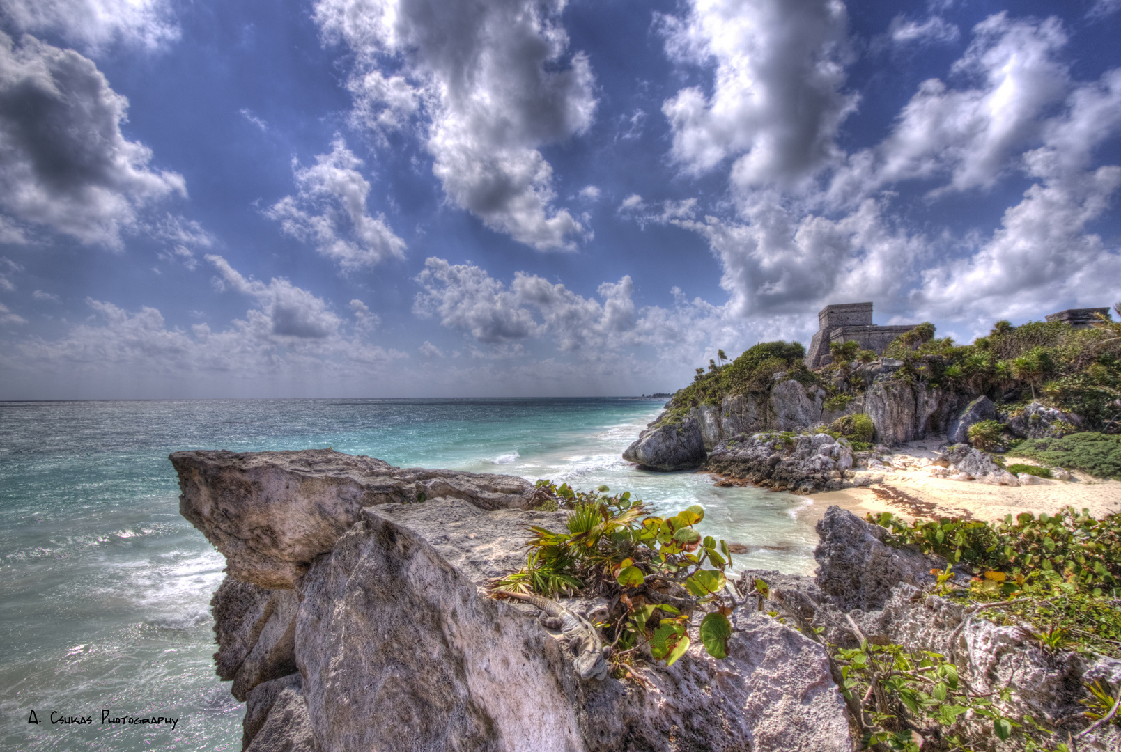
M331 449L175 452L170 461L179 512L226 557L233 577L267 588L293 587L363 507L452 496L520 508L534 490L509 475L400 468Z

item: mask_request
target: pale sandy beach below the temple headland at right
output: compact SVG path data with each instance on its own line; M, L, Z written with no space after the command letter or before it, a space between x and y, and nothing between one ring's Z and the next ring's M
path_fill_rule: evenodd
M1099 480L1072 473L1071 481L1046 480L1039 485L990 485L978 481L934 477L920 466L937 449L938 442L914 442L897 447L892 458L914 461L909 467L887 468L883 481L870 488L828 491L810 496L810 514L824 514L830 504L843 507L863 517L868 512L889 511L907 518L969 516L979 520L999 520L1020 512L1053 514L1064 507L1088 509L1101 518L1121 511L1121 481ZM1036 464L1009 455L1010 462Z

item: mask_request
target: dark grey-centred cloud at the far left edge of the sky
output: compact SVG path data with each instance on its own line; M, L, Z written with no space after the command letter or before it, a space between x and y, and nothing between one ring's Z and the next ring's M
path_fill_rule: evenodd
M151 150L121 134L128 100L86 57L0 34L0 206L84 243L121 247L141 207L186 195L149 168Z

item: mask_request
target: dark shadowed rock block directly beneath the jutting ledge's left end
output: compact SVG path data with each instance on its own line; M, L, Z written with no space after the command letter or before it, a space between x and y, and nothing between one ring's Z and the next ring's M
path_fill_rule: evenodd
M296 594L270 591L232 577L211 598L217 675L233 680L240 700L257 685L296 670Z

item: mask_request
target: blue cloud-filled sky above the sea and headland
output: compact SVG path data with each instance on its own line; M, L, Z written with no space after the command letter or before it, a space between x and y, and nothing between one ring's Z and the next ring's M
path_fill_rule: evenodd
M0 0L0 399L673 391L1121 300L1121 0Z

